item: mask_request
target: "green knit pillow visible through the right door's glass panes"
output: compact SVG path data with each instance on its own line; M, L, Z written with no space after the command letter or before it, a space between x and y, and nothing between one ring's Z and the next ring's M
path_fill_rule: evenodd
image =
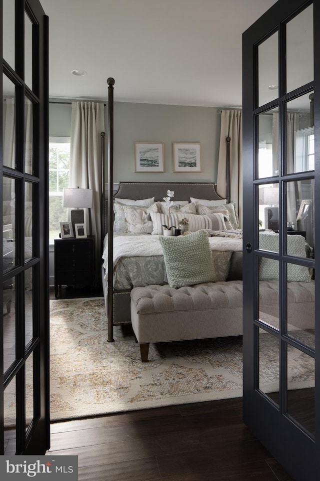
M290 256L306 257L305 239L302 235L287 235L287 253ZM279 252L279 234L260 232L259 248L263 251ZM279 279L279 263L274 259L260 258L260 280ZM287 264L287 281L310 282L311 276L306 266Z

